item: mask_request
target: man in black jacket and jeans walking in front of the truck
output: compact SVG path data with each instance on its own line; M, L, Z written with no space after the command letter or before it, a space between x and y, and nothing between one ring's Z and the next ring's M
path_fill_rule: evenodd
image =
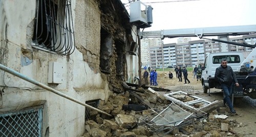
M227 103L232 114L236 114L236 111L233 108L231 103L231 95L233 92L234 84L239 87L238 80L236 75L230 66L227 66L227 60L223 59L221 61L221 66L216 68L215 79L219 81L221 88L224 93L224 104Z

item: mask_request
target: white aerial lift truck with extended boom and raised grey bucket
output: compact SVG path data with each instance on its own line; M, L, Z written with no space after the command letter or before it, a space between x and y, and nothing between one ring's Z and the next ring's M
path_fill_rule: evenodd
M153 23L152 19L152 7L146 6L140 1L131 3L130 10L130 22L135 24L138 28L147 28ZM176 30L162 30L162 31L150 31L150 32L140 32L138 30L138 36L142 38L153 38L161 37L164 38L176 38L176 37L198 37L200 39L207 36L218 36L219 39L208 39L211 41L222 42L226 44L233 44L239 46L246 46L254 48L249 56L244 59L243 54L235 52L220 52L218 54L218 61L213 62L214 58L217 59L217 56L214 56L214 53L211 53L206 56L204 62L204 69L202 71L202 87L204 93L207 93L210 88L221 89L219 83L215 81L214 74L216 68L220 65L220 61L223 58L230 58L229 65L236 70L237 79L239 80L240 87L235 88L236 95L242 96L244 92L248 92L251 89L255 90L256 84L251 81L255 81L256 76L249 75L252 70L256 67L256 50L255 44L250 45L247 43L237 43L228 41L228 36L238 36L238 35L249 35L256 33L256 25L240 25L240 26L220 26L220 27L211 27L211 28L193 28L193 29L176 29ZM228 55L228 56L227 56ZM232 60L232 61L231 61ZM141 76L140 76L141 77Z

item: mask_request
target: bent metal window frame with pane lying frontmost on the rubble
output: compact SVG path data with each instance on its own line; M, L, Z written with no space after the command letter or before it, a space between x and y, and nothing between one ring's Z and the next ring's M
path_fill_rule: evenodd
M147 130L164 136L174 129L202 121L207 114L182 104L171 103L158 108L148 109L133 114L138 125Z

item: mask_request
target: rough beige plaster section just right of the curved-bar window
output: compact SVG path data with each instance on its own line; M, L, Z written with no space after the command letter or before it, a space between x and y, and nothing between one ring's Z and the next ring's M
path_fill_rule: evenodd
M75 8L76 47L82 53L83 61L99 72L100 57L100 10L93 0L78 0Z

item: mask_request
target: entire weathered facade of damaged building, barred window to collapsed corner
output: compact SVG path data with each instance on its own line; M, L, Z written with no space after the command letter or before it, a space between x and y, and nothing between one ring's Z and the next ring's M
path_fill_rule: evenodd
M106 101L138 76L138 56L128 52L137 29L118 0L0 1L0 9L2 65L84 103ZM41 136L85 130L86 107L3 70L0 93L2 116L40 108Z

